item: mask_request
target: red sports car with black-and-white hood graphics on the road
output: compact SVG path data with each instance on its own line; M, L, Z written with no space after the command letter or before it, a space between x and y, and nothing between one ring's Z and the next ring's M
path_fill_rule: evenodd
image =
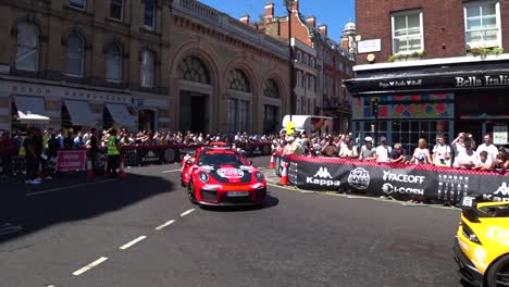
M261 205L266 197L263 174L228 148L198 149L184 163L182 185L189 200L202 205Z

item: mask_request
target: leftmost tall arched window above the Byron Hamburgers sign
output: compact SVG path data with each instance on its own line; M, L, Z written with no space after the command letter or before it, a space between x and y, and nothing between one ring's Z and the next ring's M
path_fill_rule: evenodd
M26 22L17 24L16 68L39 68L39 33L35 25Z

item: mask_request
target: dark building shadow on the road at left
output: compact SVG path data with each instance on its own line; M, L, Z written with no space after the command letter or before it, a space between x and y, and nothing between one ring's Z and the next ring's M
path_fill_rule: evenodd
M45 192L48 189L32 190L32 194L20 190L21 188L3 189L0 192L0 222L20 224L22 229L15 233L0 230L0 242L53 224L86 220L120 210L159 194L169 192L174 187L172 182L164 178L139 174L100 183L92 180L87 184L80 176L75 180L80 183L73 185L70 182L63 185L63 188L49 189L50 192ZM70 188L65 188L66 186Z

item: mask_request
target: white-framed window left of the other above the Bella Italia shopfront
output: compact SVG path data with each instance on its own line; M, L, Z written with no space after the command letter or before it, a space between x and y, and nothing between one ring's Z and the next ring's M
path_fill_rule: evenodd
M410 54L424 49L420 11L394 14L392 22L394 54Z

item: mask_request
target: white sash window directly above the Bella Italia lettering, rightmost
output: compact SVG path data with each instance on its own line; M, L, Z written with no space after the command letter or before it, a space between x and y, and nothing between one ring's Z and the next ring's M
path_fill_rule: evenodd
M501 47L498 2L473 2L464 5L467 48Z

